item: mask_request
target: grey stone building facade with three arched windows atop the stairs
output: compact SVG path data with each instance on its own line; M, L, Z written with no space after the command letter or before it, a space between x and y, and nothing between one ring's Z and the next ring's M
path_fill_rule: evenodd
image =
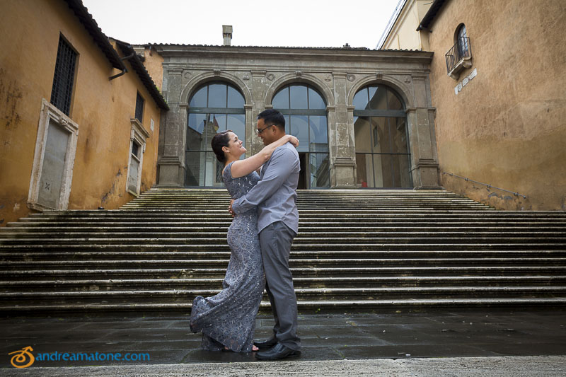
M299 188L439 187L429 52L151 45L146 58L148 51L163 59L171 108L161 119L161 187L219 185L211 135L233 129L248 156L256 153L256 117L267 108L281 110L301 141Z

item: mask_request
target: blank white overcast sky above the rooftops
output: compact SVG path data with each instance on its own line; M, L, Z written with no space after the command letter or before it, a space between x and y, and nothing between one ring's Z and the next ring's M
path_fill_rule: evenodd
M109 37L132 44L376 48L398 0L83 0Z

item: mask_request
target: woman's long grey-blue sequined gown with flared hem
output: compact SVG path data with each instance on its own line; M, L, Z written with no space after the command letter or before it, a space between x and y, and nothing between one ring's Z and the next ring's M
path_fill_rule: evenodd
M232 178L232 163L224 169L224 184L233 199L246 195L260 177L253 172ZM216 296L197 296L192 303L190 328L202 331L202 347L234 352L250 352L253 345L255 315L258 313L265 277L258 238L258 211L253 209L234 217L228 228L230 262L222 291Z

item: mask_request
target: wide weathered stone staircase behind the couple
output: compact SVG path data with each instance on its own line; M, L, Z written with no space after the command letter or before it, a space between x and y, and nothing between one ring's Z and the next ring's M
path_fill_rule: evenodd
M195 296L221 289L228 204L226 190L154 188L118 210L9 223L0 312L190 313ZM415 190L299 190L298 207L300 312L566 306L564 211Z

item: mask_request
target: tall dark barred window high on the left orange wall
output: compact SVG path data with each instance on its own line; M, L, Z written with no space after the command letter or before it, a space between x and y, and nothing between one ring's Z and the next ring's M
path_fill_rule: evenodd
M57 62L55 62L55 74L51 89L51 103L66 115L69 115L71 110L76 55L69 43L65 42L62 36L59 36Z

